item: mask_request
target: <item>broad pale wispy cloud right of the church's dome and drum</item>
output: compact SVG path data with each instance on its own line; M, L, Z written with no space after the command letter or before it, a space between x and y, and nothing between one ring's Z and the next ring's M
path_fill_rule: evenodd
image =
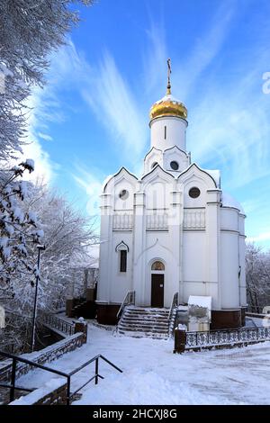
M188 134L193 157L227 170L231 189L270 174L269 103L261 91L261 65L254 67L256 76L253 70L247 77L243 69L229 85L218 87L210 81L207 95L193 108Z

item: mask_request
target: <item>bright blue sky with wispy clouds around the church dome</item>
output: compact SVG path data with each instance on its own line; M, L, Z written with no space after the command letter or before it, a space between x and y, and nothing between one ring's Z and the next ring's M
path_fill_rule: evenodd
M247 237L270 247L270 2L99 0L80 14L51 57L48 85L31 96L36 175L98 213L103 179L121 166L140 171L170 57L193 161L220 168L221 188L247 213Z

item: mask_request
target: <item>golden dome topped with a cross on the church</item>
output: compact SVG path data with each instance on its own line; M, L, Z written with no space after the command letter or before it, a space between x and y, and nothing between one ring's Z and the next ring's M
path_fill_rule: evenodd
M150 109L150 121L156 118L162 118L164 116L176 116L182 119L187 118L187 109L184 103L176 100L171 94L171 59L168 58L167 61L167 85L166 85L166 95L159 100L157 103L154 103Z

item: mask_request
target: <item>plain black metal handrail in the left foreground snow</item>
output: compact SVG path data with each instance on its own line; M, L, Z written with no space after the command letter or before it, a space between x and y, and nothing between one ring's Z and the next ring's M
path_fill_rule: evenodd
M102 359L105 363L108 365L111 365L114 369L116 369L118 372L122 373L122 370L117 366L114 365L110 360L108 360L103 355L99 354L98 356L94 356L90 360L88 360L84 365L80 365L75 370L70 372L69 374L60 372L59 370L52 369L51 367L48 367L46 365L39 365L38 363L35 363L31 360L27 360L25 358L14 356L13 354L5 353L4 351L0 351L0 356L4 356L5 358L11 358L12 359L12 369L11 369L11 382L10 383L0 383L1 388L7 388L10 390L9 395L9 401L14 401L15 398L15 391L22 391L22 392L32 392L33 389L29 388L23 388L23 386L20 386L16 383L17 376L17 363L23 363L25 365L30 365L31 367L38 368L41 370L44 370L46 372L50 372L52 374L58 374L59 376L63 376L67 378L67 401L66 404L70 405L72 398L76 395L77 392L81 391L88 383L91 383L94 381L95 384L98 383L98 379L103 379L103 376L99 374L99 360ZM80 386L78 389L76 389L75 392L71 392L71 377L78 373L80 370L85 368L87 365L91 365L94 363L94 376L92 376L89 380L87 380L82 386Z

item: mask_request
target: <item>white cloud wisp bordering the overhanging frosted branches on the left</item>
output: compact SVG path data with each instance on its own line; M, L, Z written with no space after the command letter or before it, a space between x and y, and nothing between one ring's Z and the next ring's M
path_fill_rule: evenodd
M50 57L50 67L46 75L47 84L43 88L32 89L31 97L27 101L31 109L28 138L27 144L23 147L23 157L31 157L35 161L35 172L29 176L30 179L42 178L45 182L53 182L57 175L59 165L49 157L43 141L54 142L49 134L51 122L65 121L59 92L70 86L79 89L80 80L85 77L83 63L84 58L77 53L73 42L67 40L67 45Z

